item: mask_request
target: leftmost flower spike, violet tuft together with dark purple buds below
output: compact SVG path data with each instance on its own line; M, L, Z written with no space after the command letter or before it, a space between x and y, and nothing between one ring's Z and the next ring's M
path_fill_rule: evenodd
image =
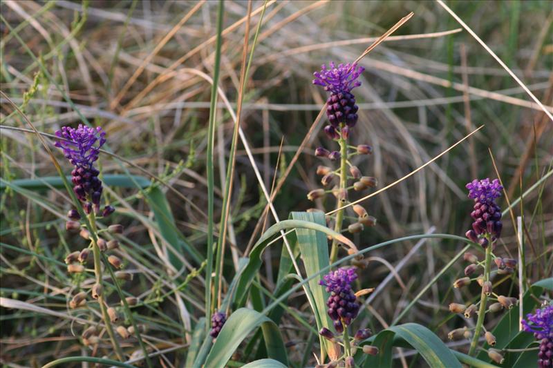
M55 146L62 148L65 157L75 166L71 171L71 182L77 199L83 202L84 211L88 214L93 208L96 213L100 212L102 182L98 179L100 171L93 164L100 155L100 147L106 143L106 133L100 126L88 128L79 124L76 129L63 126L55 135L62 138Z

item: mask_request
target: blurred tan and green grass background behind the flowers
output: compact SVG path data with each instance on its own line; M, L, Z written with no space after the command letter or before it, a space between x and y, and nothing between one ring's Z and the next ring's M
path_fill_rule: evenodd
M259 21L262 6L262 1L254 1L252 26ZM454 1L449 6L543 104L552 106L550 1ZM220 86L234 108L244 32L243 23L238 22L245 21L246 8L245 1L225 1ZM185 202L164 188L178 229L201 257L205 256L207 224L202 212L207 203L205 150L209 115L209 83L201 73L213 75L215 9L215 1L1 3L1 90L19 106L24 105L24 112L41 132L52 134L64 124L77 124L80 118L75 108L90 122L102 126L114 153L164 178L189 200ZM372 42L366 38L379 37L411 11L415 16L394 36L460 28L432 1L268 2L247 81L242 119L268 188L274 175L279 179L288 167L326 99L324 91L312 85L312 72L328 61L355 60ZM168 37L169 33L173 35ZM356 90L361 113L353 142L371 144L374 153L371 157L356 157L354 162L365 175L377 177L380 186L413 171L474 128L482 124L485 127L421 173L366 201L366 208L377 217L378 224L355 235L359 248L424 233L432 227L438 233L465 233L470 226L471 202L464 186L474 177L496 177L489 151L512 200L520 195L521 188L525 191L551 170L552 122L464 30L385 41L360 64L366 71L362 86ZM64 101L60 90L75 106ZM0 102L1 124L6 126L1 130L2 180L55 175L37 137L8 128L28 126L13 113L14 108L6 99ZM234 125L221 99L217 124L218 216L224 186L220 174L225 173ZM281 218L288 218L290 211L313 206L306 193L319 186L315 169L321 161L313 153L317 146L328 147L320 132L322 126L315 130L318 133L310 139L274 200ZM266 202L241 144L236 160L229 243L234 255L241 255ZM118 159L104 155L100 162L104 175L124 174ZM132 174L144 175L133 166L126 168ZM71 170L67 164L64 169L67 173ZM529 257L536 265L529 268L531 280L552 272L551 182L550 178L546 180L514 210L516 215L523 212L526 216ZM129 251L122 255L129 267L141 273L151 270L139 284L134 284L134 293L148 296L153 290L152 295L160 296L171 285L174 287L172 283L177 279L165 267L162 255L167 254L163 251L166 244L160 244L163 242L151 208L137 193L113 188L106 197L118 207L117 218L126 226L124 236ZM60 214L70 208L62 193L48 191L41 197L32 197L29 193L3 191L0 205L3 244L29 249L50 260L62 260L66 251L75 250L72 242L82 242L75 238L64 240L67 237L59 230L63 224ZM329 210L334 204L315 205ZM505 208L506 202L501 205ZM405 260L411 246L385 249L373 256L397 264ZM505 252L516 254L516 238L508 217L501 246ZM461 248L462 244L453 242L424 242L398 275L401 287L392 281L386 293L371 302L369 308L376 318L365 320L364 324L378 330L390 323ZM232 277L232 254L226 255L225 274ZM272 284L278 255L275 250L265 255L265 285ZM182 258L189 263L189 269L200 267L189 255L183 254ZM2 296L64 310L64 298L59 296L71 292L71 280L64 277L63 267L50 263L3 246ZM459 264L435 284L411 309L409 320L447 333L451 323L448 325L435 313L446 310L454 298L449 285L462 268L463 264ZM386 264L375 260L362 275L362 285L376 286L388 273ZM202 315L202 297L202 279L196 278L187 289L193 321ZM177 304L168 298L158 306L154 300L152 305L165 316L144 311L144 316L153 316L149 322L156 325L156 332L152 335L176 345L183 343L182 331L187 330L178 322L179 311L174 308ZM294 298L290 304L304 318L310 318L304 298ZM35 313L5 308L1 309L1 318L3 364L33 366L81 349L71 343L74 338L68 320L50 318L45 323ZM290 345L296 344L299 354L304 349L304 331L298 331L297 322L287 322L283 333Z

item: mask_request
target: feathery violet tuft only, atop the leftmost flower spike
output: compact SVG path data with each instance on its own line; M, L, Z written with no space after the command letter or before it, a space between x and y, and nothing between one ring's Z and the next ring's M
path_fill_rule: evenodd
M71 126L62 126L62 129L57 130L55 135L68 139L57 141L55 146L62 148L65 157L71 164L82 168L92 167L93 162L98 159L100 147L106 142L106 132L100 126L88 128L88 126L79 124L76 129Z

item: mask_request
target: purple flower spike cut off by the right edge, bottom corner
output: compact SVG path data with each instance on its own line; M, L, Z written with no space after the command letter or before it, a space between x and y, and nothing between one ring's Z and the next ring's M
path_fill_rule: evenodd
M523 331L534 333L541 340L538 351L538 367L553 366L553 305L529 313L523 320Z

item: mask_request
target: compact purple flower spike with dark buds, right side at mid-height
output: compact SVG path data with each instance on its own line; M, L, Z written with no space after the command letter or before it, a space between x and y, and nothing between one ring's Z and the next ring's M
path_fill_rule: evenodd
M473 199L474 211L471 217L474 219L471 231L467 231L467 238L473 242L479 242L484 248L488 245L485 239L486 235L491 235L492 239L499 238L501 235L501 209L496 204L496 198L501 196L503 186L499 180L494 179L491 182L489 178L482 180L473 180L467 184L469 189L469 198ZM478 237L482 237L478 239Z

